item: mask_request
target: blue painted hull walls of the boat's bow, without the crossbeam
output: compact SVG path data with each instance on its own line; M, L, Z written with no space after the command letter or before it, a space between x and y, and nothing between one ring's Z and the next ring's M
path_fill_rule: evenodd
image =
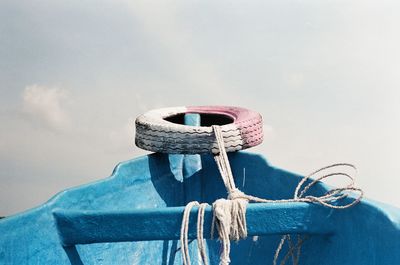
M226 197L213 157L198 158L200 161L195 160L192 169L192 162L185 157L166 154L126 161L119 164L109 178L63 191L37 208L0 220L0 264L182 264L177 240L63 246L53 212L112 214L140 209L163 212L167 207L184 206L188 199L211 204ZM301 178L272 167L261 155L237 152L229 154L229 159L238 188L255 196L292 198ZM320 184L312 192L318 195L325 191L326 187ZM292 221L285 219L290 216L288 209L282 206L259 222L265 226L290 225ZM399 209L368 199L346 210L321 209L328 211L328 227L332 225L334 233L312 234L303 245L300 264L400 264ZM314 215L314 212L309 214ZM117 223L104 229L98 227L98 233L113 234L124 228ZM150 225L136 228L143 233L153 229ZM128 234L131 229L131 226L126 227ZM232 244L231 264L271 264L279 237L265 235ZM210 264L218 264L219 242L207 239L206 243ZM190 244L190 251L195 257L195 241Z

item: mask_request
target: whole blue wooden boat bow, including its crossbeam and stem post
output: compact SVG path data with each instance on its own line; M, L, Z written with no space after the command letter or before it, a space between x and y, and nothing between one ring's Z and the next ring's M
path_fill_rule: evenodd
M199 117L183 119L200 125ZM228 156L235 182L246 194L292 198L303 178L271 166L259 154ZM329 189L318 182L310 193L319 196ZM211 205L226 196L211 153L138 157L117 165L109 178L62 191L37 208L0 220L0 264L182 264L184 206L191 201ZM209 264L219 264L212 215L209 206L205 245ZM282 235L293 244L298 238L304 242L298 260L285 255L292 248L284 244L276 264L400 264L400 210L369 199L347 209L301 201L250 203L246 219L248 237L232 243L231 264L272 264ZM196 208L189 220L189 253L197 264Z

